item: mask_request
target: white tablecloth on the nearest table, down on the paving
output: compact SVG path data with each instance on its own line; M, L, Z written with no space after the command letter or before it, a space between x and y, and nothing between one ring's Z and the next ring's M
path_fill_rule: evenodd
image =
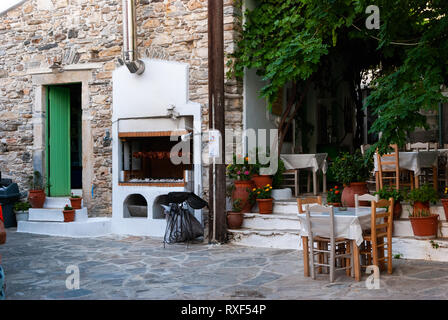
M330 216L328 214L313 213L311 210L311 222L314 236L330 236ZM347 211L339 211L334 208L335 237L356 240L359 246L363 242L362 230L370 229L370 207L347 208ZM384 208L377 209L377 212L385 212ZM297 214L299 217L299 235L307 237L309 235L306 223L306 214Z

